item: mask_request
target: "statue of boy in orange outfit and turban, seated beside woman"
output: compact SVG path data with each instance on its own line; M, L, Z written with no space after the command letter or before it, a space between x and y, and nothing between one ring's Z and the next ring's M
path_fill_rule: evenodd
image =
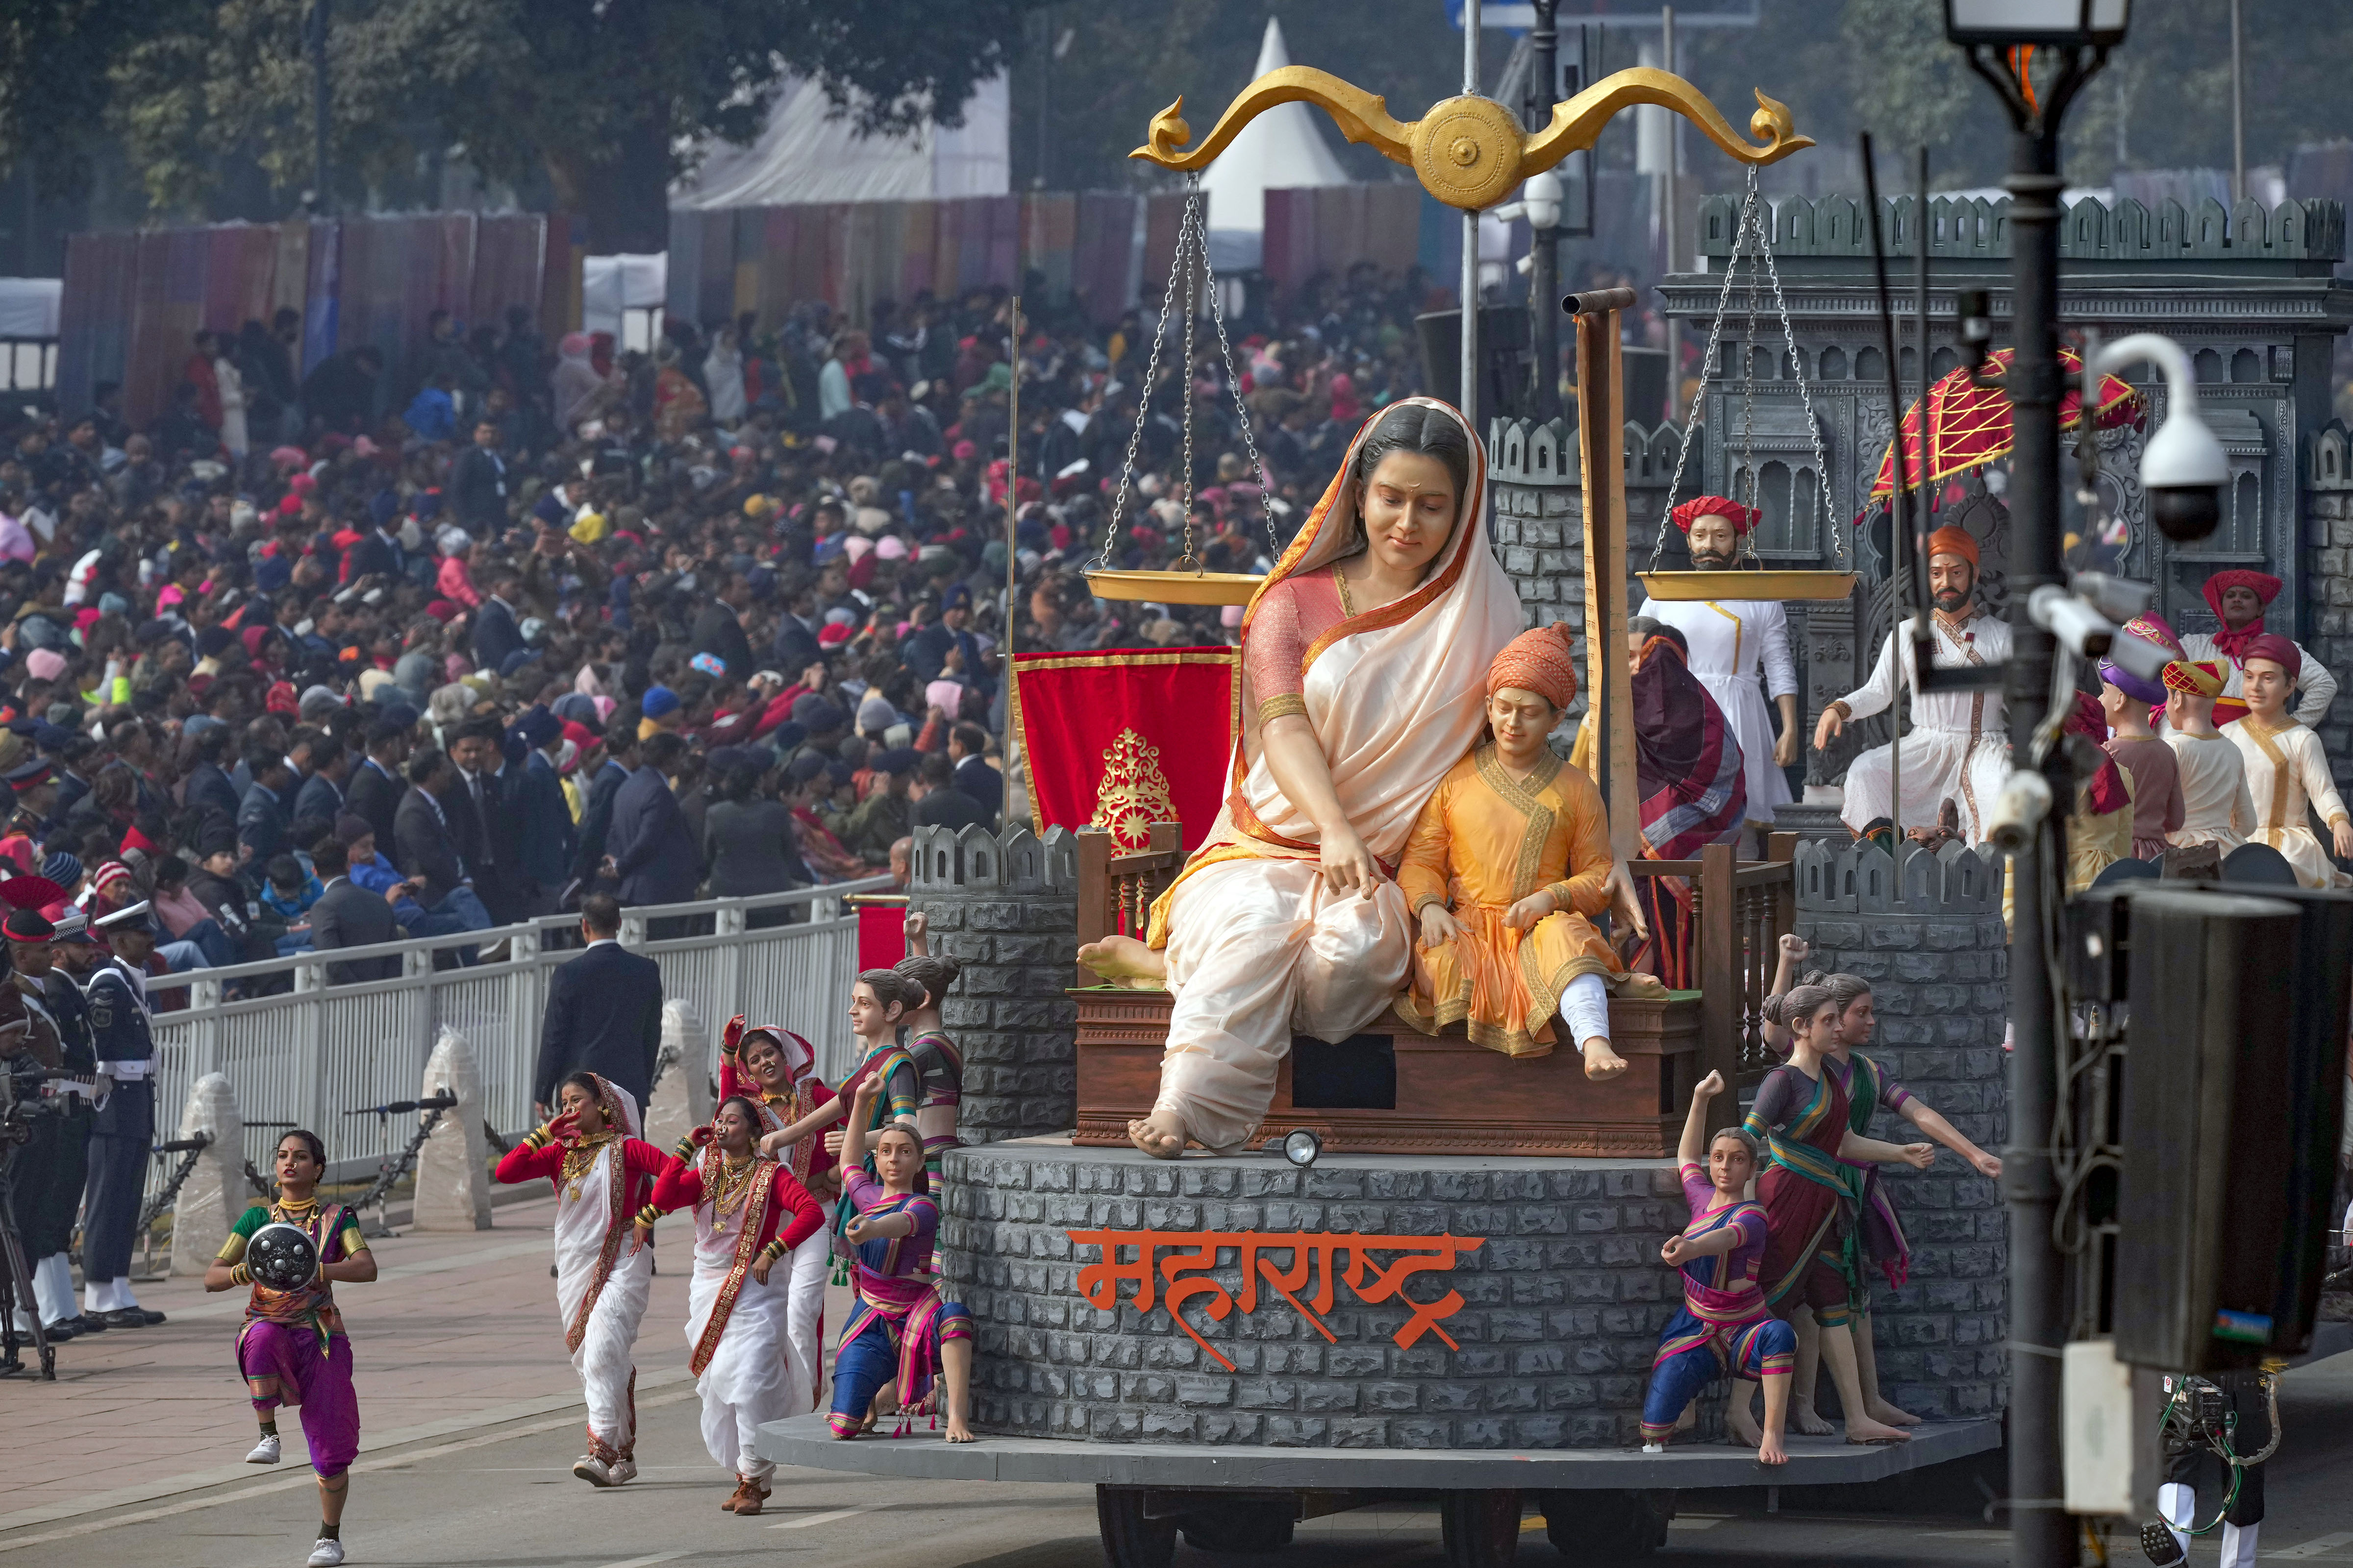
M1489 736L1440 780L1398 867L1419 924L1398 1016L1431 1034L1464 1023L1506 1056L1544 1056L1565 1027L1586 1077L1614 1079L1609 990L1664 987L1628 976L1593 926L1612 903L1609 816L1546 743L1574 698L1565 625L1520 632L1489 665Z

